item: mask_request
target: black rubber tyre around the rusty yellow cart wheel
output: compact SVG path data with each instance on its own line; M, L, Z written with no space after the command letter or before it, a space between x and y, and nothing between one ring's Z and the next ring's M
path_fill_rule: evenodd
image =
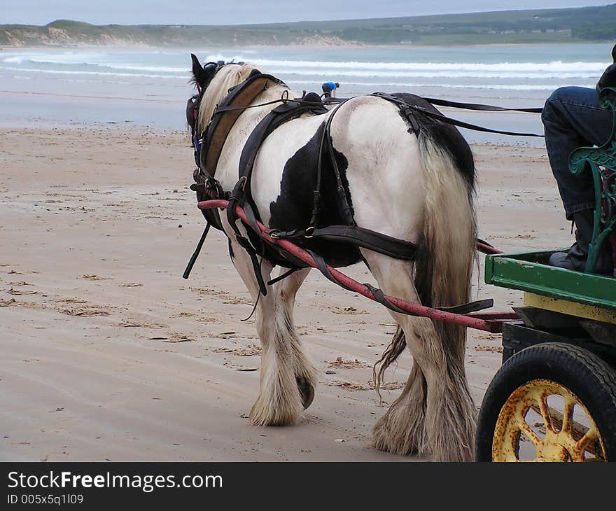
M616 372L594 353L558 342L530 346L500 367L479 411L476 460L492 461L500 410L517 388L535 379L554 381L579 398L603 439L607 460L616 461Z

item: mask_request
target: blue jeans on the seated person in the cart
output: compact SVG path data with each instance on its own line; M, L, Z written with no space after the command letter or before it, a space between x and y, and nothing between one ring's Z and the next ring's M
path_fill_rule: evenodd
M594 209L594 188L589 171L574 176L569 155L580 146L602 146L612 130L612 111L602 109L595 89L561 87L545 102L541 114L549 165L558 183L568 220L584 209Z

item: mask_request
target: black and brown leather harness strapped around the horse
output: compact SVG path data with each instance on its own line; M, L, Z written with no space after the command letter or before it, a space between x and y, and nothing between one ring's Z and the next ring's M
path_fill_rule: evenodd
M193 173L195 183L190 186L190 189L197 193L198 201L217 198L223 198L229 201L229 206L226 209L228 222L235 232L235 237L238 243L246 250L251 258L253 270L255 272L260 293L262 295L267 294L267 286L265 286L265 282L262 279L260 260L258 257L267 259L272 263L272 265L281 265L283 267L290 268L290 270L285 274L269 281L269 284L283 279L290 273L295 272L297 269L307 267L308 265L305 262L293 257L293 255L290 255L286 251L283 251L278 246L268 243L262 239L260 235L258 235L260 230L257 227L257 221L260 221L260 216L251 195L251 175L255 158L262 142L265 141L267 136L276 130L276 128L283 125L283 123L307 113L315 116L328 113L329 110L325 107L323 102L321 102L321 97L318 94L311 92L309 94L304 93L302 98L288 99L288 97L284 97L283 95L281 99L269 102L279 102L281 104L272 109L272 111L270 111L260 121L260 123L258 123L246 140L246 144L244 144L244 148L242 149L240 156L239 180L233 190L223 190L220 183L216 181L214 175L216 173L216 166L218 165L218 160L221 156L225 141L228 134L232 130L232 127L235 125L237 118L239 118L245 109L252 108L253 106L263 106L265 104L269 104L265 103L251 106L253 100L261 92L264 92L269 87L281 84L282 82L277 78L274 78L271 75L262 74L255 69L244 82L232 87L229 90L229 93L225 99L223 99L223 102L221 102L221 104L215 109L212 118L207 125L206 130L202 133L202 137L200 139L197 140L195 138L195 125L191 125L193 128L195 162L197 164L197 169L195 169L195 172ZM414 116L414 111L408 104L388 94L376 93L372 95L381 97L396 104L400 108L402 115L408 120L413 132L415 134L419 134L419 123ZM332 111L326 121L323 135L321 137L316 168L316 189L313 192L314 206L309 225L305 228L297 228L291 231L270 230L269 235L278 239L321 238L330 241L343 241L356 249L358 247L363 247L368 248L371 251L388 255L392 258L416 260L417 253L420 249L416 244L410 241L393 238L380 232L361 228L356 224L353 218L352 208L349 205L348 190L346 190L346 187L344 186L342 174L339 171L336 162L330 134L332 119L339 106L339 104L335 106L334 111ZM323 170L323 158L330 159L332 169L335 173L337 194L340 204L342 205L342 214L345 222L344 225L325 225L323 227L317 227L321 204L321 174ZM241 207L246 212L247 222L243 223L246 227L248 238L244 237L237 227L238 217L235 213L236 206ZM214 227L218 230L223 230L218 209L206 209L202 210L202 213L207 220L207 225L200 242L197 245L197 250L193 254L193 257L186 268L186 272L184 272L184 278L188 278L190 269L197 258L204 239L207 236L207 232L209 231L210 225L214 225ZM330 281L340 285L339 282L330 274L324 258L313 251L309 251L309 253L311 253L314 257L318 269L323 273L323 275ZM381 290L373 288L372 286L370 286L370 288L374 296L377 297L377 301L381 302L381 304L385 307L407 314L405 311L398 309L398 307L395 307L394 304L389 302ZM491 305L488 305L488 307L489 306ZM463 304L456 307L442 307L442 310L458 311L461 314L465 314L468 311L475 311L484 308L486 308L485 300L482 302L473 302L472 304Z

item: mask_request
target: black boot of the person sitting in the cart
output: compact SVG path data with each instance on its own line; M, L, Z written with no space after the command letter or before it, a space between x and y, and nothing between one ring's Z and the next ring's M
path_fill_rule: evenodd
M584 209L584 211L574 213L573 221L576 228L575 243L571 245L568 252L555 252L550 255L548 264L559 268L573 269L576 272L583 272L586 269L588 246L592 239L594 209ZM596 260L594 273L612 274L614 267L608 246L608 241L604 241Z

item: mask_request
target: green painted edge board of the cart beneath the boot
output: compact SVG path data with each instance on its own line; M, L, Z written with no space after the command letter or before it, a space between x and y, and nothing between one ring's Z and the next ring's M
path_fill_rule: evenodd
M549 252L486 255L486 283L616 309L616 279L549 266Z

